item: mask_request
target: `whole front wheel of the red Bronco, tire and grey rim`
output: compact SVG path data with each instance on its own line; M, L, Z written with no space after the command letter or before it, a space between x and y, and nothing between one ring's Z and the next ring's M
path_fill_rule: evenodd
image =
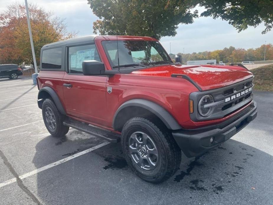
M157 126L145 118L136 117L125 123L121 145L129 167L151 183L169 179L181 163L181 150L170 131L164 125Z

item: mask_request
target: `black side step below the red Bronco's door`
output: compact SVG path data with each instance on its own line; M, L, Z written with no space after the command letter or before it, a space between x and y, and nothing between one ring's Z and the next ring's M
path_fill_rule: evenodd
M88 125L87 123L82 123L76 120L67 119L63 122L64 125L75 128L77 130L86 132L96 137L102 137L106 141L117 143L120 141L120 134L111 132L106 129L102 129L93 125Z

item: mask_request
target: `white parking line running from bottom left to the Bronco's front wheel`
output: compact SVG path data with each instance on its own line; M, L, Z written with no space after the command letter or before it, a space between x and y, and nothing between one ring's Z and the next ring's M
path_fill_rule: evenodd
M105 145L107 145L107 144L110 144L110 142L104 142L104 143L99 144L99 145L97 145L97 146L95 146L95 147L91 147L91 148L86 149L86 150L84 150L84 151L82 151L82 152L73 154L73 155L71 155L71 156L69 156L69 157L66 157L66 158L64 158L64 159L62 159L62 160L59 160L59 161L57 161L57 162L53 162L53 163L51 163L51 164L49 164L49 165L46 165L46 166L41 167L41 168L38 168L38 169L33 170L33 171L29 172L29 173L20 175L19 178L20 178L20 179L24 179L24 178L30 177L30 176L32 176L32 175L35 175L35 174L39 173L39 172L42 172L42 171L44 171L44 170L47 170L47 169L49 169L49 168L51 168L51 167L55 167L55 166L57 166L57 165L60 165L60 164L62 164L63 162L67 162L67 161L72 160L72 159L74 159L74 158L76 158L76 157L79 157L79 156L81 156L81 155L83 155L83 154L86 154L86 153L88 153L88 152L92 152L92 151L94 151L95 149L99 149L100 147L103 147L103 146L105 146ZM8 184L14 183L14 182L16 182L16 178L12 178L12 179L10 179L10 180L7 180L7 181L5 181L5 182L3 182L3 183L0 183L0 188L3 187L3 186L6 186L6 185L8 185Z

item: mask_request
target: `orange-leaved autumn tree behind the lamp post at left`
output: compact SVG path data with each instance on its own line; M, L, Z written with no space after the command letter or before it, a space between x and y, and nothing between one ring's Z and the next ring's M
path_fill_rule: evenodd
M64 19L53 17L37 5L30 4L30 24L37 64L43 45L72 38L75 32L67 32ZM25 62L33 64L26 9L23 4L10 4L0 13L0 64Z

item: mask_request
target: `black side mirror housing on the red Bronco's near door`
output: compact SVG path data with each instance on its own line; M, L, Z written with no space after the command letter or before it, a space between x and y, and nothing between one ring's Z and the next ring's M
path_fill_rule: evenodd
M99 61L83 61L82 72L84 75L104 75L105 67L104 64Z

